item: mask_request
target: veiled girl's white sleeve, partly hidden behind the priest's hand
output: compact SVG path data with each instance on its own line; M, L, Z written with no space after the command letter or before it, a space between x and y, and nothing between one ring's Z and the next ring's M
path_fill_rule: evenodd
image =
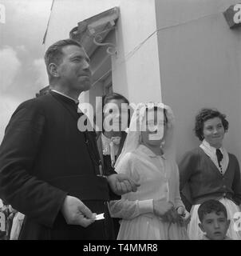
M135 170L133 170L133 159L135 158L131 153L126 154L120 162L117 172L128 174L130 178L137 182L139 177ZM138 191L130 193L138 193ZM152 199L130 201L128 200L128 195L129 193L124 194L121 196L121 200L109 202L110 214L113 218L131 219L136 218L140 214L153 213Z

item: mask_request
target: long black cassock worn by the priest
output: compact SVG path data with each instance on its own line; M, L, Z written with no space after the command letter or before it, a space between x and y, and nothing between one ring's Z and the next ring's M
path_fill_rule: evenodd
M26 214L20 239L111 239L106 178L97 176L94 132L77 129L73 100L50 91L23 102L0 146L0 198ZM66 194L105 220L68 225L60 209Z

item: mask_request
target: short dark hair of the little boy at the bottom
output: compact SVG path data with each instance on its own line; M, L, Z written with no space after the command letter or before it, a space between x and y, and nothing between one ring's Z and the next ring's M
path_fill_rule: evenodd
M225 218L227 218L227 210L225 206L223 206L221 202L213 199L203 202L197 212L200 222L203 222L203 218L206 214L211 214L212 212L215 212L216 214L223 213Z

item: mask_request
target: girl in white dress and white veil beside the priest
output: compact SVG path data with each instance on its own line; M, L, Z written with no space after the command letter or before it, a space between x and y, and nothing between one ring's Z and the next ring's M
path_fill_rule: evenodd
M173 120L172 110L162 103L141 103L132 115L115 167L140 186L109 204L112 217L122 218L118 240L188 239L189 214L172 155Z

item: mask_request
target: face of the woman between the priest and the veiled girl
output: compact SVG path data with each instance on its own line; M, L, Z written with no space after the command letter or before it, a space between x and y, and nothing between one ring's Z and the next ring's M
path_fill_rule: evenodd
M106 131L126 130L128 126L128 104L123 99L112 99L105 103L103 123Z

